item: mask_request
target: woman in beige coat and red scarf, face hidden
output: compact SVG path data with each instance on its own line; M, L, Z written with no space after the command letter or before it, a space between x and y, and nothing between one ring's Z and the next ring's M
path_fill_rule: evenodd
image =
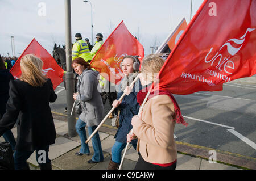
M137 94L137 102L142 104L152 82L162 68L164 60L157 55L144 58L139 78L147 90ZM174 140L176 123L186 125L180 108L170 92L158 90L148 96L141 116L135 115L131 120L133 134L127 134L127 142L138 138L137 151L141 154L135 170L176 168L177 149Z

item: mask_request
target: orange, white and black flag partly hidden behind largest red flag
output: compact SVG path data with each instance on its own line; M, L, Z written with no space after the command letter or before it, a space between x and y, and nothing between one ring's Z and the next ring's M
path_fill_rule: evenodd
M187 22L185 18L183 18L181 22L178 24L178 26L175 28L175 30L171 32L171 34L167 37L166 40L164 40L163 44L160 45L160 47L155 53L170 53L171 50L174 49L175 45L177 44L177 41L180 39L180 36L187 28L187 26Z

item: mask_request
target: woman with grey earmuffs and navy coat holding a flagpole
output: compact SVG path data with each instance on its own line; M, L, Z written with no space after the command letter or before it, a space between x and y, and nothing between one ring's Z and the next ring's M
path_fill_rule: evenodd
M139 104L136 100L136 95L141 90L141 82L137 80L134 83L133 89L129 87L130 83L133 82L135 77L138 76L139 71L139 60L134 56L123 57L121 68L125 77L121 80L119 86L117 86L117 100L114 100L112 106L119 108L119 127L115 134L115 143L112 147L112 158L110 159L108 170L117 170L121 163L122 150L126 146L126 135L131 130L131 118L137 115L139 112ZM118 99L125 93L125 97L122 102ZM136 149L137 140L131 141L134 149Z

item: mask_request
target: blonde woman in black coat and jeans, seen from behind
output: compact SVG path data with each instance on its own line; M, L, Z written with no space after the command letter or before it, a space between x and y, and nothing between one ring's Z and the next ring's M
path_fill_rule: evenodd
M19 120L14 153L17 170L29 169L26 161L34 150L40 169L51 169L48 151L49 145L55 143L56 131L49 102L55 102L57 95L42 67L43 61L33 54L22 57L22 75L10 82L7 112L0 120L0 136Z

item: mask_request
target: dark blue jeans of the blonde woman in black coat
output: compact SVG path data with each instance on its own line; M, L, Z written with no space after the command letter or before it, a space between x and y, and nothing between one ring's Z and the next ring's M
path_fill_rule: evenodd
M44 151L42 151L42 150L44 150ZM48 157L49 145L39 146L38 148L35 149L35 151L36 151L36 161L38 162L38 164L50 162L49 157ZM27 167L27 159L30 158L30 156L33 152L34 151L15 150L14 155L13 155L14 169L20 170L20 169L26 168Z

